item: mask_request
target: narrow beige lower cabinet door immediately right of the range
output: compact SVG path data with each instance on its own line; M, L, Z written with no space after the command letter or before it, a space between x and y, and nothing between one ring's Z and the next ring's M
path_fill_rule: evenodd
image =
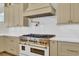
M50 56L57 56L57 41L50 41Z

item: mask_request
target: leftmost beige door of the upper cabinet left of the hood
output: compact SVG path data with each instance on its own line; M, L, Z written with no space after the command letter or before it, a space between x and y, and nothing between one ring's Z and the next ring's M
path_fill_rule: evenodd
M13 7L12 6L8 6L5 7L4 9L4 19L5 19L5 25L8 27L13 26Z

